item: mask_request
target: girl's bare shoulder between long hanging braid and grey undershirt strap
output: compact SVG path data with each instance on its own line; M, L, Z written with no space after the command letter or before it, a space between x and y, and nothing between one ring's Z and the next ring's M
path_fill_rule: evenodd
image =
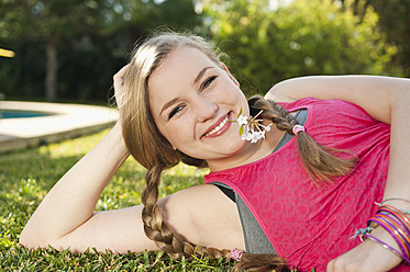
M164 219L187 240L215 248L244 248L236 205L212 184L196 185L160 200Z

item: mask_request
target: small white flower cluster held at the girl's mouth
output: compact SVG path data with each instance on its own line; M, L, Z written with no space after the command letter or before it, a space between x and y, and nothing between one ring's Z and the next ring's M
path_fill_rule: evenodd
M258 120L257 116L261 115L263 110L256 114L255 117L247 117L242 115L242 109L240 113L237 114L236 121L231 122L237 122L237 124L241 126L240 128L240 135L242 136L243 140L250 140L252 144L258 141L259 139L265 138L265 133L270 131L270 125L264 126L261 124L263 120Z

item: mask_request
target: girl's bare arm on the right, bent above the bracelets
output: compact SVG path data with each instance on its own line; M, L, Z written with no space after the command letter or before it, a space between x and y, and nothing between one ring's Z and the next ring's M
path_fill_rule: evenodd
M341 76L306 77L284 81L266 94L275 101L301 98L341 99L365 109L374 118L391 124L389 177L385 197L410 199L410 79ZM400 203L401 205L406 203Z

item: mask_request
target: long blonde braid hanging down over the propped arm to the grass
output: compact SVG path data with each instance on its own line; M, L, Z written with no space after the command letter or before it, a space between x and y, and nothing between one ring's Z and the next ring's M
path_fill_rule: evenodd
M146 188L142 193L142 203L144 205L142 219L145 235L164 252L175 259L185 257L189 260L192 256L230 259L230 250L195 246L191 242L185 241L179 235L173 234L171 229L164 223L162 211L157 205L158 184L163 169L164 167L159 162L156 162L145 175Z

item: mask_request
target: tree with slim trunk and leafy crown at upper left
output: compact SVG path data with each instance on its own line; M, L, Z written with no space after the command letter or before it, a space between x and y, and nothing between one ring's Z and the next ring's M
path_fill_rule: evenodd
M115 1L117 2L117 1ZM114 1L104 0L7 0L0 8L0 38L15 43L44 42L45 92L57 100L58 47L62 43L93 35L107 21Z

